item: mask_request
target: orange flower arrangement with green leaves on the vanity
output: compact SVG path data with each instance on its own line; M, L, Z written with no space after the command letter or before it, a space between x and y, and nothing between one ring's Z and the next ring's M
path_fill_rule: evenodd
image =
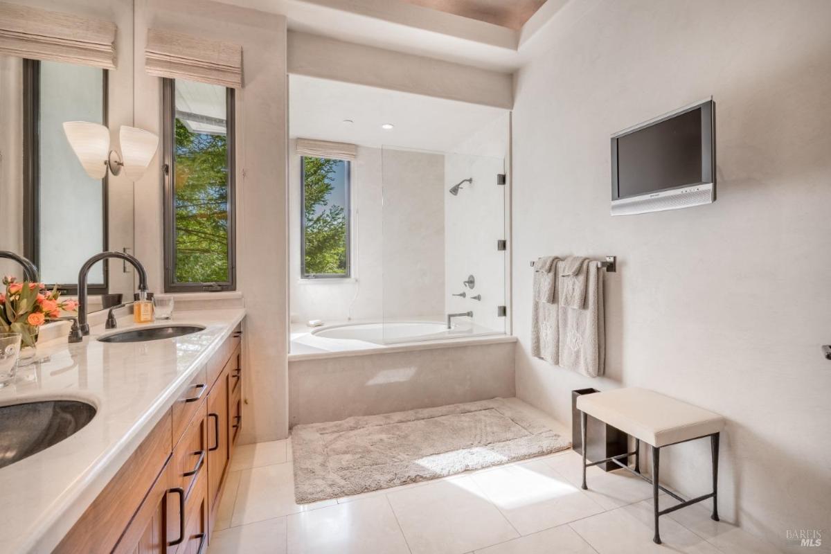
M0 331L20 333L24 346L34 347L37 331L63 311L76 311L78 302L61 301L57 286L48 291L42 282L17 282L16 277L3 277L6 292L0 292Z

